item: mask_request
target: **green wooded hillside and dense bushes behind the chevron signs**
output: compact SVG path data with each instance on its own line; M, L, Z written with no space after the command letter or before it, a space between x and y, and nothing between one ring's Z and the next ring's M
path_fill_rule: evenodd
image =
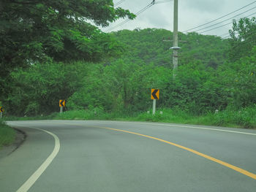
M175 79L172 32L157 28L112 32L108 39L116 41L118 55L100 62L48 59L15 69L10 94L2 103L8 114L18 116L58 112L59 99L67 100L66 111L131 114L151 109L151 88L159 88L158 108L193 115L254 108L255 32L255 18L244 18L239 26L234 22L229 39L179 33ZM109 50L115 47L106 45Z

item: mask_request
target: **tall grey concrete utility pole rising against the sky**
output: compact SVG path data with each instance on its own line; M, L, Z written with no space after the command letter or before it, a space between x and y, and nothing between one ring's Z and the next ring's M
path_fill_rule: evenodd
M174 12L173 12L173 79L176 77L176 70L178 68L178 0L174 0Z

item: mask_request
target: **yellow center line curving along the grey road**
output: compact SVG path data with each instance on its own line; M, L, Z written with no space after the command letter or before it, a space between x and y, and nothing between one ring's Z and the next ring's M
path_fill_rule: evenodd
M62 123L61 123L61 124L62 124ZM70 123L63 123L63 124L66 124L66 125L69 124L69 125L74 125L74 126L82 126L82 125L79 125L79 124L70 124ZM84 127L84 126L83 126L83 127ZM217 158L213 158L213 157L211 157L211 156L209 156L209 155L200 153L200 152L198 152L197 150L192 150L192 149L190 149L189 147L184 147L184 146L182 146L182 145L178 145L178 144L173 143L173 142L168 142L168 141L166 141L166 140L164 140L164 139L159 139L159 138L157 138L157 137L148 136L148 135L146 135L146 134L138 134L138 133L135 133L135 132L132 132L132 131L125 131L125 130L117 129L117 128L108 128L108 127L99 127L99 126L90 126L90 127L94 127L94 128L105 128L105 129L109 129L109 130L112 130L112 131L120 131L120 132L124 132L124 133L128 133L128 134L135 134L135 135L138 135L138 136L141 136L141 137L147 137L147 138L149 138L149 139L154 139L154 140L157 140L157 141L159 141L159 142L165 142L165 143L167 143L167 144L170 144L170 145L179 147L179 148L181 148L181 149L187 150L187 151L189 151L189 152L191 152L191 153L195 153L196 155L199 155L199 156L201 156L201 157L203 157L203 158L207 158L208 160L214 161L214 162L216 162L217 164L221 164L222 166L226 166L226 167L228 167L228 168L230 168L230 169L235 170L236 172L240 172L241 174L244 174L244 175L246 175L246 176L248 176L248 177L251 177L252 179L256 180L256 174L253 174L253 173L248 172L248 171L246 171L246 170L244 170L244 169L241 169L241 168L238 167L238 166L233 166L233 165L231 165L231 164L228 164L228 163L225 162L225 161L221 161L221 160L219 160L219 159L217 159Z

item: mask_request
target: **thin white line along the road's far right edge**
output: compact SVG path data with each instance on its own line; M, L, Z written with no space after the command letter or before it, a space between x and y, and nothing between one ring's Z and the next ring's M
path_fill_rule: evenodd
M100 120L90 120L90 121L97 121L97 122L102 122ZM241 132L241 131L229 131L229 130L223 130L223 129L218 129L218 128L204 128L204 127L196 127L196 126L179 126L179 125L173 125L173 124L160 124L160 123L140 123L140 122L129 122L129 121L108 121L108 122L114 122L114 123L133 123L133 124L142 124L142 125L151 125L151 126L174 126L174 127L182 127L182 128L197 128L197 129L205 129L205 130L211 130L211 131L223 131L223 132L230 132L234 134L248 134L248 135L254 135L252 133L246 133L246 132Z

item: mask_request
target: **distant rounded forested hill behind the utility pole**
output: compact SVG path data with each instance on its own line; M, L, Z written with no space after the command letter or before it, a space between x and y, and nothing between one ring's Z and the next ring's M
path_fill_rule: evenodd
M146 28L134 31L118 31L113 33L127 47L126 56L132 55L136 60L145 63L153 62L158 66L172 68L173 33L165 29ZM179 63L200 61L206 66L217 67L227 59L228 41L220 37L205 36L197 33L178 33Z

